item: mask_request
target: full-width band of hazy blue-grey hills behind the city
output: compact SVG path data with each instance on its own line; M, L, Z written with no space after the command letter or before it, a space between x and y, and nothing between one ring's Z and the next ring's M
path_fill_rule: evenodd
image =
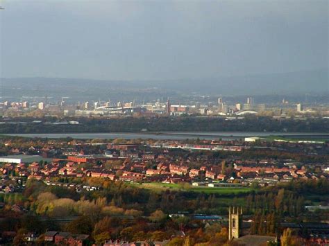
M90 80L77 78L3 78L1 96L118 98L168 94L329 94L328 70L179 80Z

